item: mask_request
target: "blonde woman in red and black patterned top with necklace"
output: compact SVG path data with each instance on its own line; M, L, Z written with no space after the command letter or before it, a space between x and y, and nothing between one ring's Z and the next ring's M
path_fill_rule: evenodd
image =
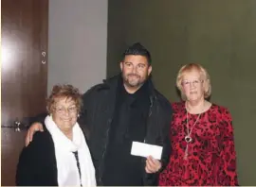
M199 64L187 64L180 69L176 85L184 101L173 104L173 152L159 185L238 185L231 116L228 109L206 100L208 72Z

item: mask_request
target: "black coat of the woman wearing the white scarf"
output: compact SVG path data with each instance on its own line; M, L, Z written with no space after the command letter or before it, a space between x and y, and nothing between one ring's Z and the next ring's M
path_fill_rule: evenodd
M54 143L49 131L36 132L24 147L16 172L17 186L58 186Z

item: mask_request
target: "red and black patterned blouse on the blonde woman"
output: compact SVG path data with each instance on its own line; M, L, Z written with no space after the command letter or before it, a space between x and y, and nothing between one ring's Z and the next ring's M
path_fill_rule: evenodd
M160 186L238 185L233 127L229 110L212 104L198 114L188 113L192 142L184 159L187 143L187 110L185 103L174 103L171 126L173 148L167 168L159 176Z

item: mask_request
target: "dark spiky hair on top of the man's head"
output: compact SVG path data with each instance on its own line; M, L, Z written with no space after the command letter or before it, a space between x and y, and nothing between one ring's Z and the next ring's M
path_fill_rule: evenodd
M151 65L151 55L150 52L142 45L140 42L136 42L133 45L129 46L123 53L122 59L125 58L126 55L141 55L148 60L149 65Z

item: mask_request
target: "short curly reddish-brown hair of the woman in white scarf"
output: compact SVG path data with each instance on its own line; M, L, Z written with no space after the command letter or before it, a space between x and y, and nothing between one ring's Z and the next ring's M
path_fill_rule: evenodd
M78 112L82 108L82 94L80 91L69 84L55 85L52 88L52 91L49 97L46 99L46 109L49 113L53 112L53 107L56 104L57 100L60 98L71 99L76 103Z

